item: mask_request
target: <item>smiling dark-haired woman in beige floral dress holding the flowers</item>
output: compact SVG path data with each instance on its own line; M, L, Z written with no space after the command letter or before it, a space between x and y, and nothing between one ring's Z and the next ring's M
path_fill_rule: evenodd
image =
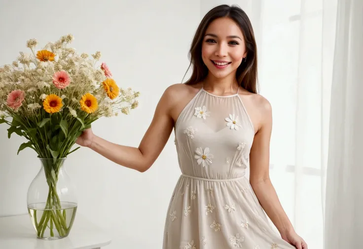
M228 5L210 10L190 55L191 78L165 90L139 148L110 143L91 129L77 143L144 172L174 128L182 175L164 249L307 249L269 179L271 106L256 91L256 43L246 13Z

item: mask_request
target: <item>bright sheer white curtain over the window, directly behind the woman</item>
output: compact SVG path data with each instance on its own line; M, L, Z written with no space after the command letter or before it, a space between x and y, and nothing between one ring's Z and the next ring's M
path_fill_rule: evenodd
M201 15L226 3L249 15L260 93L273 109L270 175L309 249L323 248L336 0L202 0Z

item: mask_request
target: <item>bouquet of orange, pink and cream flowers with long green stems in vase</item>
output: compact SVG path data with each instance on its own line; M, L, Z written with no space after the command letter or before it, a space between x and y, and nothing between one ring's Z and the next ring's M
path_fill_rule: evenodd
M68 47L72 41L73 36L66 35L36 50L37 41L31 39L29 54L20 52L11 65L0 67L0 124L10 126L8 138L16 133L27 139L18 154L31 148L38 158L47 159L43 167L48 197L40 221L35 220L40 238L47 227L51 236L53 227L60 237L68 234L56 188L61 159L79 148L71 150L84 129L100 117L129 114L140 94L116 84L108 66L97 63L99 51L79 55Z

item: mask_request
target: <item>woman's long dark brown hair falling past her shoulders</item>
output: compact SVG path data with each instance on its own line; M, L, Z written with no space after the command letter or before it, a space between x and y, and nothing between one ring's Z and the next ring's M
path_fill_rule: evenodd
M217 18L229 17L241 28L246 43L247 57L237 68L236 80L246 90L257 93L257 46L254 39L254 30L245 11L237 5L222 4L214 7L203 17L195 32L189 50L190 66L193 65L191 77L185 84L195 84L203 81L208 75L208 68L203 65L202 42L209 24ZM186 74L186 73L185 73ZM184 75L185 77L185 75Z

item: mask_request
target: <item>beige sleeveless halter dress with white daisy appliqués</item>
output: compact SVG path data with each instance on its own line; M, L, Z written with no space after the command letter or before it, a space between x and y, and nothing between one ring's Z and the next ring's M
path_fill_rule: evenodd
M200 89L182 110L175 137L182 175L163 249L294 249L271 226L245 177L254 127L238 92Z

